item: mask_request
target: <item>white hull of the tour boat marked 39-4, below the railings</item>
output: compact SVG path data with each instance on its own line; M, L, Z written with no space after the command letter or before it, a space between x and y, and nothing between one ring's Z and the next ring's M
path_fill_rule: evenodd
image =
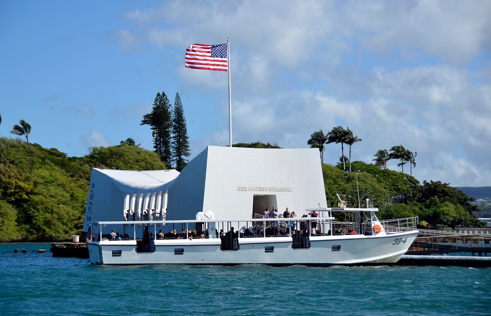
M308 249L294 249L291 237L240 237L239 249L222 251L220 239L155 240L155 252L137 253L136 240L89 242L92 264L267 264L359 265L396 263L418 231L386 236L311 236Z

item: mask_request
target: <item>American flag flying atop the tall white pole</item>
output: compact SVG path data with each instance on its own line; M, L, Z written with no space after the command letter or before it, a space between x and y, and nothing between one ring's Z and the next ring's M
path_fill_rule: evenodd
M186 50L184 62L187 68L227 70L227 44L192 44Z

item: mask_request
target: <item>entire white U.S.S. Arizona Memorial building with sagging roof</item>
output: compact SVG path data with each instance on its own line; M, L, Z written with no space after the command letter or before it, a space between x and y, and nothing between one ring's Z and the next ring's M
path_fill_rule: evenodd
M83 231L91 221L131 220L150 210L154 219L245 219L265 208L299 216L326 208L318 149L257 149L208 146L176 170L92 169ZM130 210L130 216L127 212Z

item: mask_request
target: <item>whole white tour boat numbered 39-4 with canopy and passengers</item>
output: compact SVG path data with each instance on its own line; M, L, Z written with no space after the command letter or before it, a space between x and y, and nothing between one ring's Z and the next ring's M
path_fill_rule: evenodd
M293 218L90 222L92 264L374 265L396 263L418 235L417 218L379 221L376 208L306 209ZM317 217L313 217L316 216ZM307 216L307 217L305 217ZM112 238L115 230L122 238ZM162 231L162 234L160 234Z

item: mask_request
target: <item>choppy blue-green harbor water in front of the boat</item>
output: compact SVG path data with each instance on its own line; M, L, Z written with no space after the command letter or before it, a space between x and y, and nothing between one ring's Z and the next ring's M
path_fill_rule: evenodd
M0 244L1 315L491 315L491 268L96 266L50 245Z

